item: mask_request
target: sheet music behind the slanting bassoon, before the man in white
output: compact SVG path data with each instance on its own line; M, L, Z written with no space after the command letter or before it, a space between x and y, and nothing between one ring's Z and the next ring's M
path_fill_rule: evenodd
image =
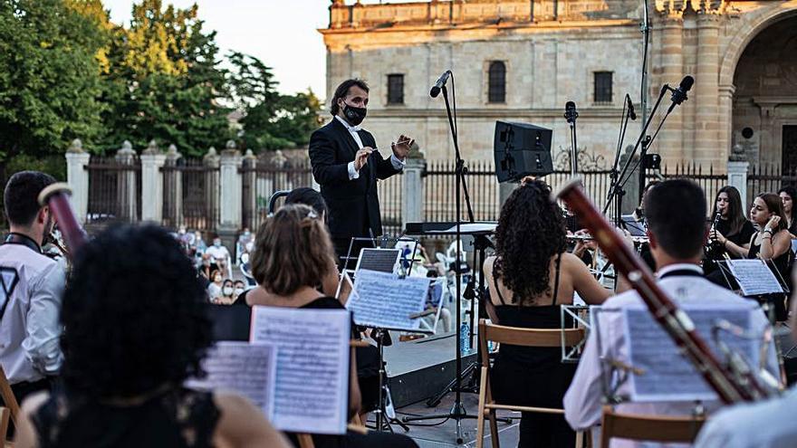
M716 347L711 329L715 322L725 319L728 322L750 329L753 304L731 305L727 308L685 309L695 323L697 333L706 340L721 362L727 357ZM760 312L760 311L758 311ZM692 363L680 355L675 342L650 315L647 309L623 310L625 338L629 347L629 364L641 368L642 375L629 375L629 394L631 401L694 401L715 400L717 396L706 380L697 373ZM758 341L739 338L725 331L719 338L733 351L741 354L751 366L758 365Z

